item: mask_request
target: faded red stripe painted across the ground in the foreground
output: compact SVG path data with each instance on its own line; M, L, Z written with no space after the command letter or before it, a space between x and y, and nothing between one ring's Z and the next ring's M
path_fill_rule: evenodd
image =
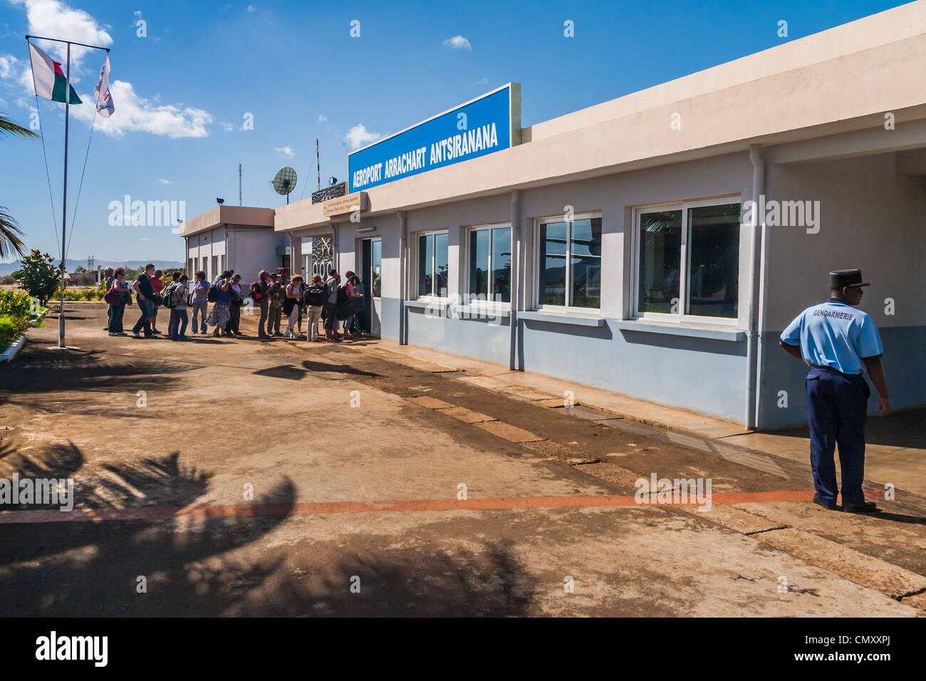
M715 505L810 501L813 490L798 492L718 492ZM382 511L507 511L511 509L578 509L631 506L697 506L687 504L639 504L632 496L599 497L503 497L459 499L396 499L393 501L330 501L294 504L233 504L212 506L142 506L127 509L74 509L73 511L2 511L0 523L102 523L106 521L156 521L170 518L243 518L254 516L327 515Z

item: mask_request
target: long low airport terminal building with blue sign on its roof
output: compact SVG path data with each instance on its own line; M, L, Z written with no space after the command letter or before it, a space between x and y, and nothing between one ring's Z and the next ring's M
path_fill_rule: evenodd
M924 72L914 3L523 129L509 83L273 230L356 271L383 338L759 429L806 422L779 334L859 267L894 407L922 406Z

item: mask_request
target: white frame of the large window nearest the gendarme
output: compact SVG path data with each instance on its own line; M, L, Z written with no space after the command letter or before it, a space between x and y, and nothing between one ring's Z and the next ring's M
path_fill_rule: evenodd
M630 319L641 320L644 322L660 322L676 325L689 326L722 326L739 328L742 323L744 309L737 301L736 317L705 317L702 315L685 314L685 298L688 296L688 278L689 278L689 258L688 258L688 209L704 208L706 206L721 206L723 204L738 203L740 205L740 215L743 214L743 195L719 195L710 198L682 199L681 201L666 201L655 204L645 204L633 207L632 211L632 233L631 233L631 313ZM640 217L644 213L650 213L658 210L681 210L682 211L682 246L679 250L679 311L676 314L671 312L641 312L640 311L640 248L642 240L640 238ZM742 217L740 221L742 236ZM742 248L743 240L739 241ZM737 283L743 281L743 260L737 256ZM737 285L737 292L741 289Z

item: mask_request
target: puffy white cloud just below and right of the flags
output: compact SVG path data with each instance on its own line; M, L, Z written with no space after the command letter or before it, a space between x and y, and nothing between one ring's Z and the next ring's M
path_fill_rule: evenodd
M212 115L201 108L173 105L156 105L149 99L136 95L131 82L109 83L116 112L111 118L96 117L96 128L112 137L121 137L126 132L151 132L171 139L180 137L206 137L206 125L212 122ZM71 107L71 115L80 120L94 118L94 95L80 93L89 106Z

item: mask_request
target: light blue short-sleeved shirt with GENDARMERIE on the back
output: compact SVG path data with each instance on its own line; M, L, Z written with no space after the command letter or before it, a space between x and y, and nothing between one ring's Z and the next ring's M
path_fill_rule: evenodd
M842 298L805 309L782 331L782 343L800 344L807 364L843 373L861 373L863 358L883 352L874 321Z

